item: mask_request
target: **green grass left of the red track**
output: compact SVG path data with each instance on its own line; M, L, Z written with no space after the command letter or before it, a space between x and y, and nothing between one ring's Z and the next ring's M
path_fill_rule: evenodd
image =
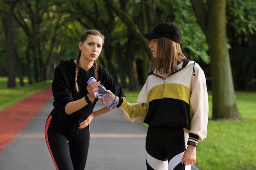
M7 88L7 77L0 77L0 110L52 84L52 81L46 81L30 85L27 83L27 79L24 82L25 86L21 87L19 80L16 79L16 88Z

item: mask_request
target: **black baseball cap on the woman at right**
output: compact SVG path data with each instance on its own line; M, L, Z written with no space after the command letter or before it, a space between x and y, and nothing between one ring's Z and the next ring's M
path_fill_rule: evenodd
M180 28L173 22L164 22L155 26L152 32L142 34L146 39L152 40L156 38L166 37L180 44L182 33Z

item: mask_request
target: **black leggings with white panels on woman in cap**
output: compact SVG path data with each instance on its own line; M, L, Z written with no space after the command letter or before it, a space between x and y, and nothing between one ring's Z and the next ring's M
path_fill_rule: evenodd
M189 170L182 156L186 150L183 128L170 126L148 127L146 165L148 170Z

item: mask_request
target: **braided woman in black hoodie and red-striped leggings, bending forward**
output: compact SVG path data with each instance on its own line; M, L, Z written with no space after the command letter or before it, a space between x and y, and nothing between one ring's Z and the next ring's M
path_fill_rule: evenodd
M110 110L93 111L95 92L102 84L118 96L124 92L106 68L97 64L104 36L97 30L85 31L79 40L77 59L61 61L55 68L52 92L54 109L45 126L45 139L57 170L84 170L90 140L89 124ZM90 77L97 82L87 84Z

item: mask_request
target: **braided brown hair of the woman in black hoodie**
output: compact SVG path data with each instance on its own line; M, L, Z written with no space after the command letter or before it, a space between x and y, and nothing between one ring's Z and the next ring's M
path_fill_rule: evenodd
M102 42L102 45L104 44L104 40L105 40L105 36L98 30L87 30L85 31L80 39L79 39L79 42L85 42L85 40L88 38L88 35L99 35L101 36L103 42ZM102 49L103 50L103 49ZM79 86L77 84L77 76L78 76L78 73L79 73L79 61L80 61L80 57L81 57L81 50L79 50L79 53L78 53L78 56L76 58L76 76L75 76L75 88L76 88L76 91L79 92ZM97 60L95 60L93 62L93 70L94 70L94 78L98 80L98 64L97 64Z

